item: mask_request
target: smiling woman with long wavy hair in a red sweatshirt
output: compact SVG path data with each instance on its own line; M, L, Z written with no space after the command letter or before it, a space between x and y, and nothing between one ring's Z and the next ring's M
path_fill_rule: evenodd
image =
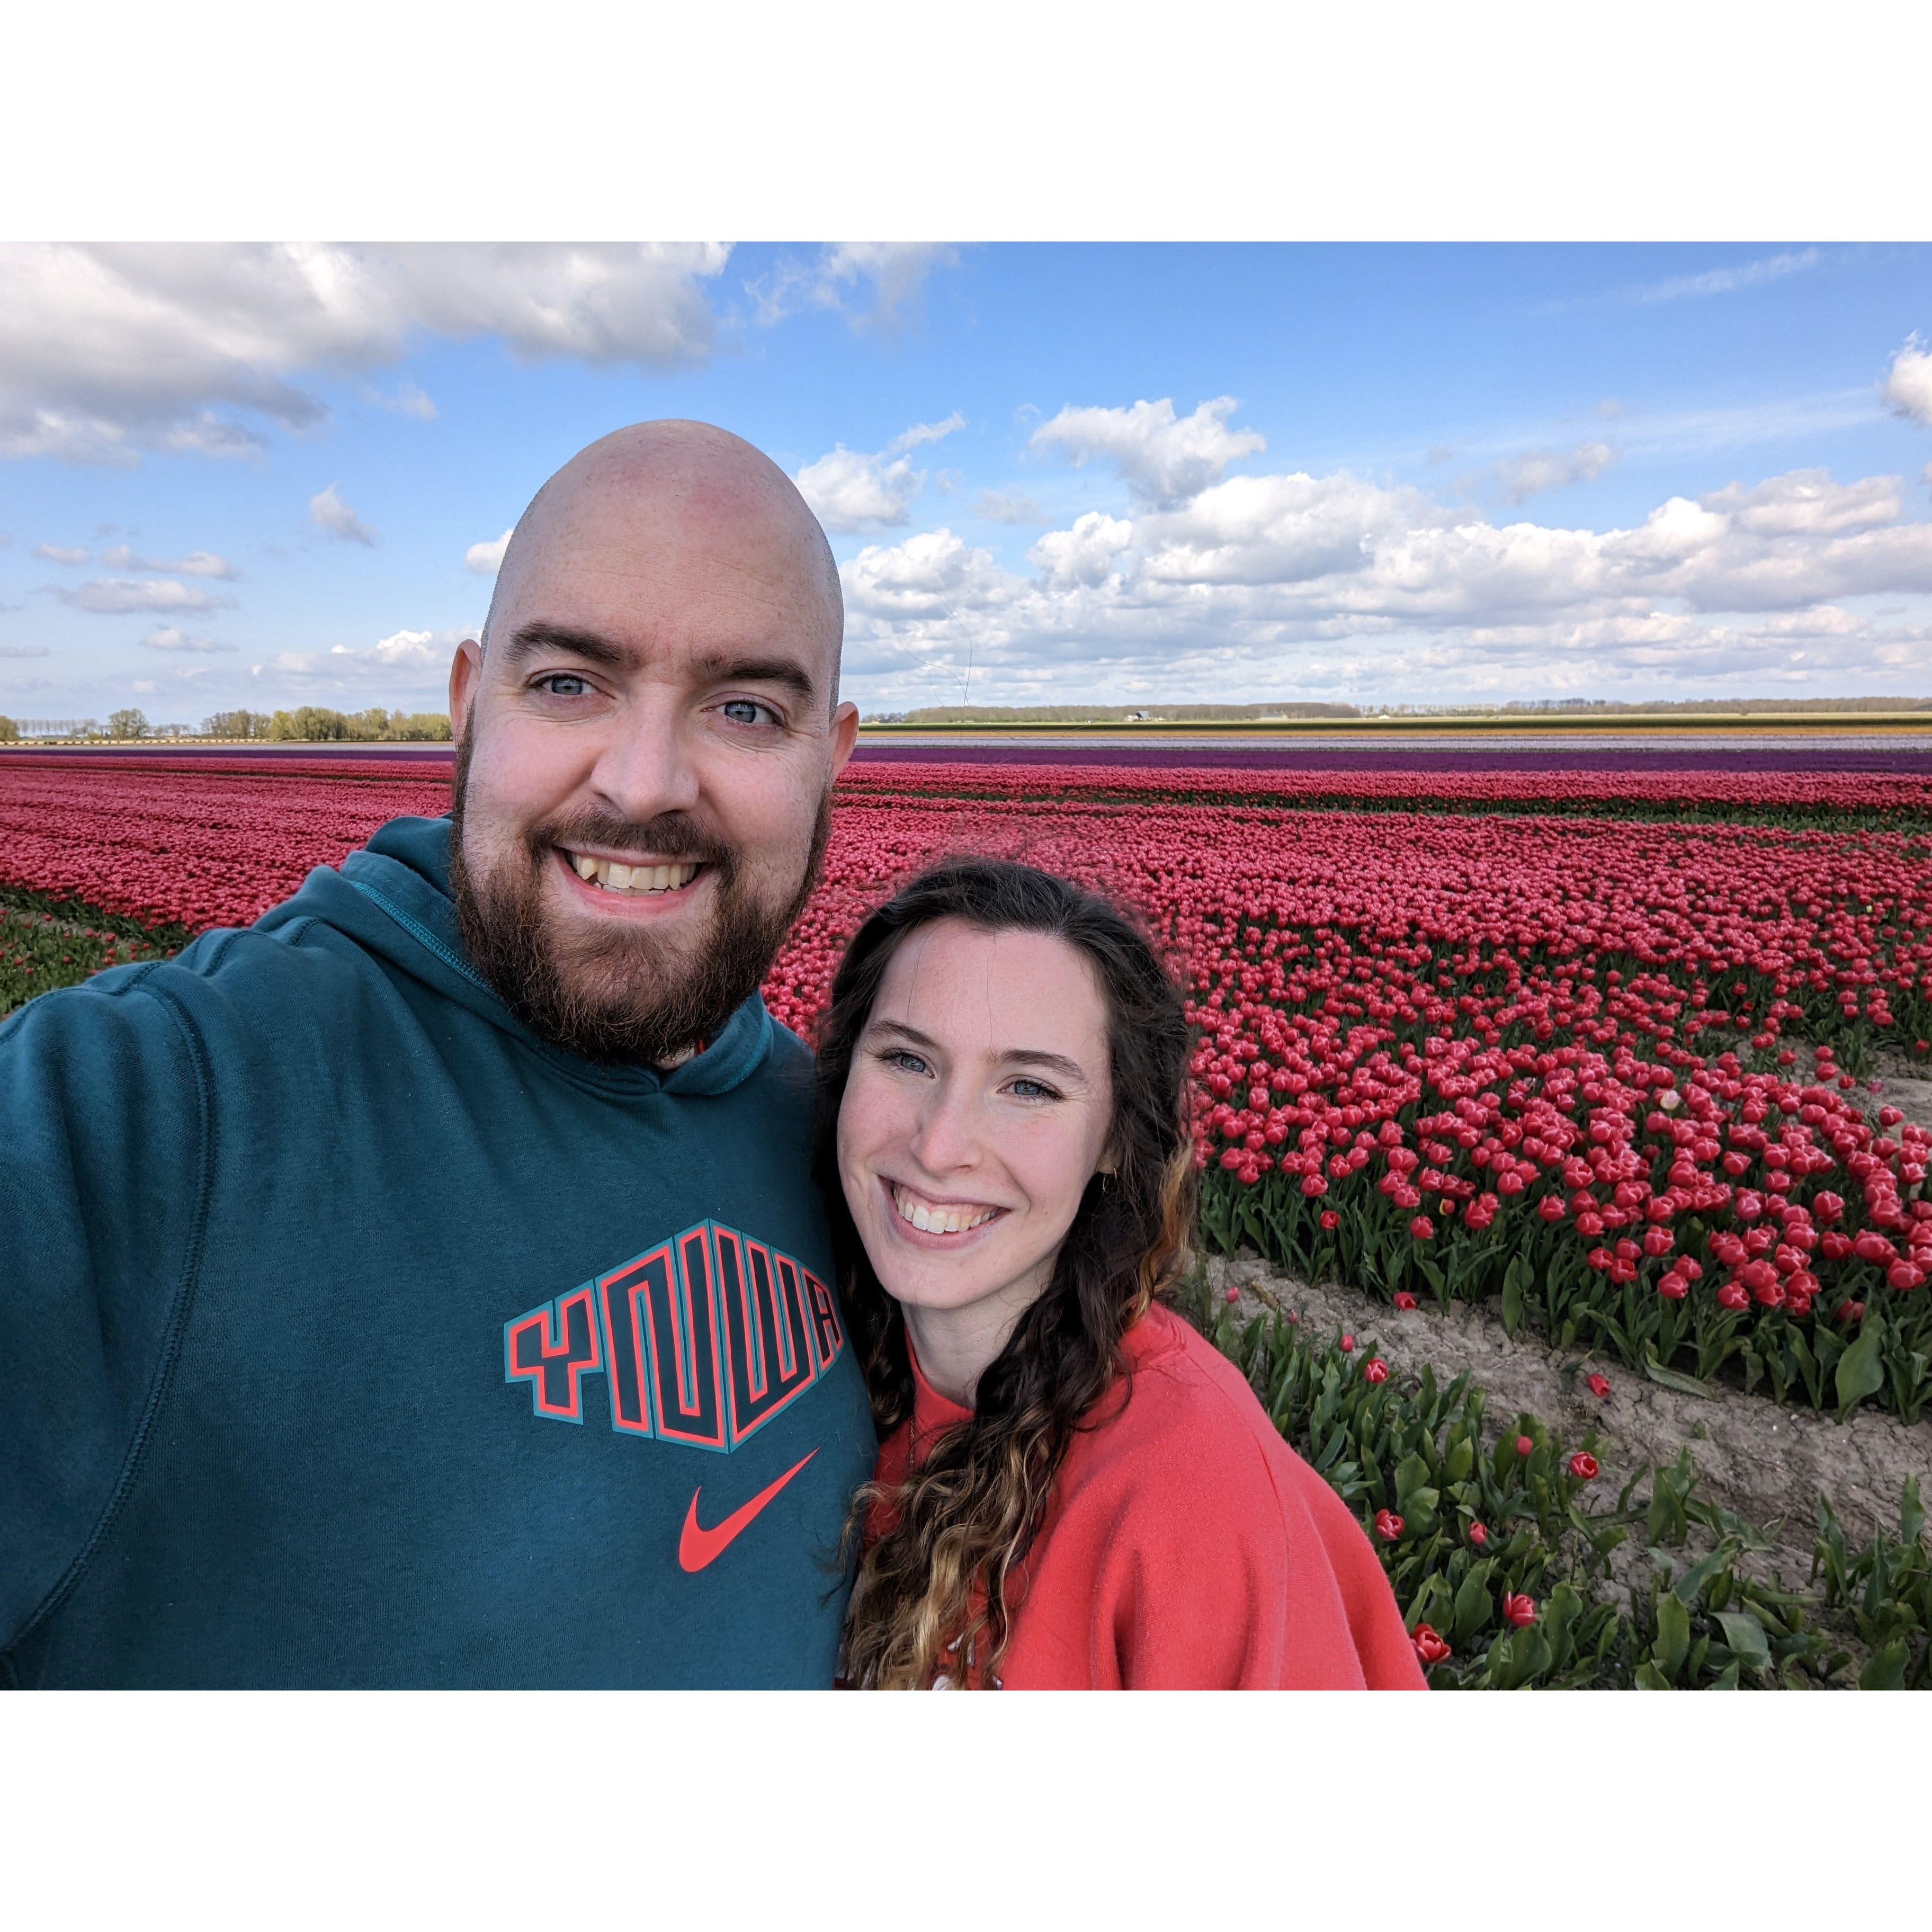
M846 1683L1420 1689L1360 1526L1155 1302L1186 1063L1148 941L1026 866L939 866L846 951L819 1169L883 1437Z

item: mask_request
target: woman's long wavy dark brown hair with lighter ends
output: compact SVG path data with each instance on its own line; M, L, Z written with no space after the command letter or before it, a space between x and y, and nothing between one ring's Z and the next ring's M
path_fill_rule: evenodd
M960 1685L997 1681L1053 1478L1122 1372L1121 1337L1180 1271L1194 1213L1186 1016L1138 925L1095 893L1003 860L952 860L902 887L858 929L819 1022L817 1175L879 1435L912 1414L912 1360L900 1306L844 1208L838 1103L893 954L937 920L1049 933L1092 966L1107 1003L1115 1171L1088 1184L1045 1293L980 1378L972 1422L902 1484L854 1501L854 1540L875 1507L889 1522L862 1549L846 1619L844 1679L871 1689L925 1687L941 1669Z

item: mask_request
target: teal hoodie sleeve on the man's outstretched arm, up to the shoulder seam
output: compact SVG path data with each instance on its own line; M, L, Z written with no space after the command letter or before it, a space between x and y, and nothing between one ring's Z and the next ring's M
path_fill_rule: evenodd
M145 974L0 1024L0 1654L106 1520L193 1291L207 1057Z

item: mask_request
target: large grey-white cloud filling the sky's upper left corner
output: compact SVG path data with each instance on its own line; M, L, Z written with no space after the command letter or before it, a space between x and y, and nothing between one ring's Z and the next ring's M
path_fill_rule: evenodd
M670 369L713 342L717 243L10 243L0 247L0 456L137 462L263 446L325 417L321 373L419 334L522 361ZM412 384L394 404L423 413Z

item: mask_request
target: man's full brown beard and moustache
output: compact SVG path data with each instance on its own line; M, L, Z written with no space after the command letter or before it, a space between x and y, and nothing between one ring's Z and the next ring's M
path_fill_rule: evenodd
M533 825L489 875L477 877L464 864L471 742L466 738L456 753L450 891L464 945L504 1005L541 1039L587 1061L663 1066L717 1039L771 972L817 885L831 838L831 786L819 798L804 877L782 906L753 898L738 852L682 811L641 825L595 811ZM564 941L543 908L543 871L556 864L558 848L583 846L701 864L715 873L711 931L688 951L616 922L595 937Z

